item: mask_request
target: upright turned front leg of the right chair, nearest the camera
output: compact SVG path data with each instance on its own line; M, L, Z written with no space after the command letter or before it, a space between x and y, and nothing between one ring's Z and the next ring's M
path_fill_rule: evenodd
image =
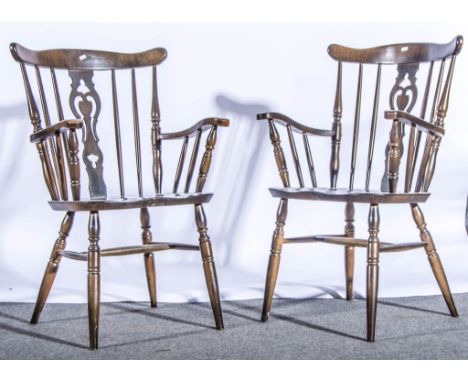
M375 341L377 295L379 289L379 206L369 209L369 240L367 242L367 341Z

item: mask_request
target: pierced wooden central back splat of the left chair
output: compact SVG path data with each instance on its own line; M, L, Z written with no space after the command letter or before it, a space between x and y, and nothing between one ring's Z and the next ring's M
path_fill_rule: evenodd
M96 124L101 112L101 100L93 83L90 70L70 70L72 83L70 108L75 118L83 119L83 162L89 178L89 196L91 199L106 199L107 188L103 177L104 157L99 148Z

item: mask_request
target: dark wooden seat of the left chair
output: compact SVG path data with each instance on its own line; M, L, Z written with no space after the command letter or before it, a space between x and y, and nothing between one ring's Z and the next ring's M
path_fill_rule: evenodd
M57 200L50 201L49 205L54 211L104 211L104 210L126 210L131 208L148 208L163 206L181 206L184 204L208 203L213 194L210 193L185 193L185 194L162 194L147 198L107 198L106 200Z

